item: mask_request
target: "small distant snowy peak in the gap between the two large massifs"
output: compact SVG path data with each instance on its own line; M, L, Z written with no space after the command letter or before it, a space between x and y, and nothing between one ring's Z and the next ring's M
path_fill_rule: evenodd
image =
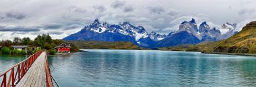
M165 34L160 34L155 31L152 31L149 35L150 35L150 38L153 39L154 41L160 41L166 37Z

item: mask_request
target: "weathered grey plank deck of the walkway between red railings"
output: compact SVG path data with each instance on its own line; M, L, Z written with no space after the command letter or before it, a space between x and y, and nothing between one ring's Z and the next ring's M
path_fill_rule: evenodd
M25 76L17 84L17 87L44 87L46 86L46 75L44 64L46 53L42 52Z

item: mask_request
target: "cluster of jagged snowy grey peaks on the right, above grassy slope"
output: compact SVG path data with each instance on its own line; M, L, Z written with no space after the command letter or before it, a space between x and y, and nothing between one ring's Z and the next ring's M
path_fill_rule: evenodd
M178 31L174 31L175 33L179 33L180 31L187 31L188 33L192 33L201 41L218 41L220 39L226 39L237 31L234 31L236 28L236 23L224 23L222 27L211 27L207 24L206 21L203 21L199 25L199 29L197 28L197 23L195 19L191 19L191 21L183 21L179 26ZM172 34L174 34L172 32Z

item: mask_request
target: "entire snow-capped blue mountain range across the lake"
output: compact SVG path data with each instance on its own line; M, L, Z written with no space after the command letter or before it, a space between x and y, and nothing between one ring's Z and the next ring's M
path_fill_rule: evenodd
M165 35L155 31L148 33L144 27L135 26L129 22L109 24L95 19L81 31L73 33L63 40L130 41L144 48L159 48L226 39L237 33L234 31L235 28L236 23L224 23L219 29L210 27L205 21L198 28L195 19L191 19L191 21L183 21L179 30L170 31L168 35Z

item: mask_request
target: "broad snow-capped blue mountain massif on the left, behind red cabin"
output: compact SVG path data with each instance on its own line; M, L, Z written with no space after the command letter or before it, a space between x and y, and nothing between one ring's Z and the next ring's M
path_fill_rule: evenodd
M129 22L117 25L100 23L95 19L81 31L69 35L64 40L93 40L93 41L131 41L139 46L154 46L155 41L150 39L147 31L142 26L134 26Z

